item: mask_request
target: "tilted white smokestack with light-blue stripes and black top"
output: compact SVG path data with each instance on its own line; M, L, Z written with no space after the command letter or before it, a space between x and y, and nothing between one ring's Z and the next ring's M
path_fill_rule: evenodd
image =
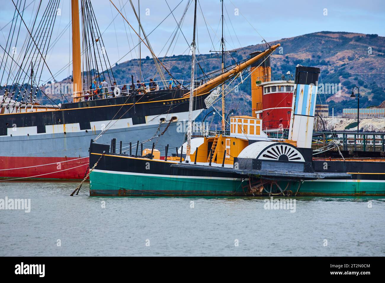
M297 147L311 147L320 68L298 65L295 69L289 139Z

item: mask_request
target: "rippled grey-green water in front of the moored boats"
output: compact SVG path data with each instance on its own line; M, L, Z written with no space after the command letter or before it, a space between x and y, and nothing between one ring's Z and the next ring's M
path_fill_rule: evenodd
M385 255L384 197L295 198L291 213L266 198L90 197L88 184L69 196L77 184L1 181L0 199L31 211L0 210L0 256Z

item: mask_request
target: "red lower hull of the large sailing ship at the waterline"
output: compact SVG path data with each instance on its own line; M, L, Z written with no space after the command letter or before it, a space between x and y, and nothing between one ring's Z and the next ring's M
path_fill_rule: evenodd
M89 157L0 156L0 179L83 179Z

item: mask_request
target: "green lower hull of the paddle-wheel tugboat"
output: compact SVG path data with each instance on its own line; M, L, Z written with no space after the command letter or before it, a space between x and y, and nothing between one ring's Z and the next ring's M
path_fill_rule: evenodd
M286 182L279 183L286 188ZM286 191L295 194L298 182L292 182ZM215 195L230 196L247 193L248 181L233 178L203 178L191 176L135 175L123 172L94 170L90 174L91 196L133 196L133 195ZM268 187L266 187L268 189ZM272 193L280 193L273 188ZM256 194L254 192L254 194ZM268 192L263 191L263 194ZM314 180L301 184L298 196L333 195L385 195L385 181L372 180Z

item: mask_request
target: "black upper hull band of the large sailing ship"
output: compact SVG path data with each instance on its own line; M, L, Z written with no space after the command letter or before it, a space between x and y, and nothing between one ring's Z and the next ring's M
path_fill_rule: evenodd
M177 90L177 96L183 91ZM208 94L199 95L194 98L193 110L206 108L204 99ZM28 112L2 115L0 122L0 136L7 135L7 128L37 126L42 132L45 126L79 123L80 129L90 129L90 122L109 121L111 119L133 118L136 123L145 122L145 116L172 114L189 111L189 98L162 99L162 97L147 96L147 100L137 99L137 102L129 102L131 97L123 96L110 99L91 100L65 104L74 108L66 108L53 111ZM124 103L126 102L126 103ZM104 104L104 105L99 105ZM85 105L85 107L78 107ZM95 105L95 106L92 106ZM76 106L76 107L75 107ZM114 118L115 117L115 118Z

